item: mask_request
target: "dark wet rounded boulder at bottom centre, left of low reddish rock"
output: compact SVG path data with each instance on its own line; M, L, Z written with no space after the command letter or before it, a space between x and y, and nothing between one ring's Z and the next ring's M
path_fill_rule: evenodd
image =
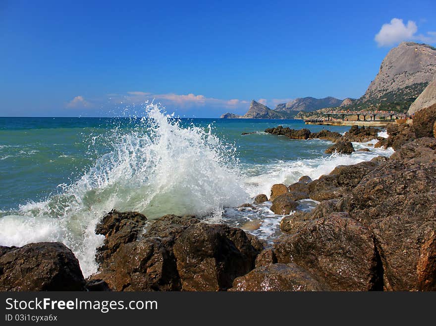
M174 244L184 291L219 291L254 268L258 251L245 232L220 224L195 224Z

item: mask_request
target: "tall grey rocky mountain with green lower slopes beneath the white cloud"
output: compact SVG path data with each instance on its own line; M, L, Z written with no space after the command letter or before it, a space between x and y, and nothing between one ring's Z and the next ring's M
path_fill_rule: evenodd
M391 49L379 73L353 109L405 112L436 75L436 48L403 42Z

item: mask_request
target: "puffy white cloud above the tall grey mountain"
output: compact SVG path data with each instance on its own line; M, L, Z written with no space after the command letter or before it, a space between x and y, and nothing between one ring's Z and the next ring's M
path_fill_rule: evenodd
M392 18L390 23L382 25L374 39L379 47L392 46L402 41L412 40L427 43L436 42L435 32L427 32L428 36L417 34L417 32L418 26L413 20L409 20L406 25L402 19Z

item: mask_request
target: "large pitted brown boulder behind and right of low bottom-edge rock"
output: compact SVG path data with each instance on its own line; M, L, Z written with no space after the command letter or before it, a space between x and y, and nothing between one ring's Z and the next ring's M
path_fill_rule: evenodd
M371 232L347 213L304 223L275 245L278 262L294 262L332 290L381 289L379 258Z

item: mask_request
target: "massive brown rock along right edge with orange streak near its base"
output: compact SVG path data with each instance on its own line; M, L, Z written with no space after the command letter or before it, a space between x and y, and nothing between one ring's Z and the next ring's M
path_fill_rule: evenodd
M436 139L404 144L347 198L375 235L386 290L435 290Z

